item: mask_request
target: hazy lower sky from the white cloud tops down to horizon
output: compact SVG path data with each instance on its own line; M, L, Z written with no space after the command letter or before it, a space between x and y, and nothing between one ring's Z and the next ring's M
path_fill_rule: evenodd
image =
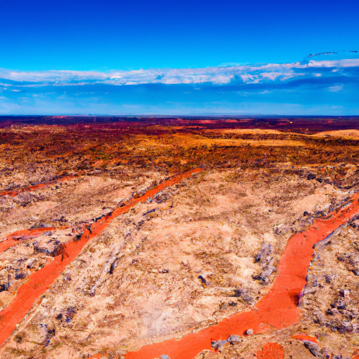
M195 69L0 69L0 114L359 114L359 55L349 55Z

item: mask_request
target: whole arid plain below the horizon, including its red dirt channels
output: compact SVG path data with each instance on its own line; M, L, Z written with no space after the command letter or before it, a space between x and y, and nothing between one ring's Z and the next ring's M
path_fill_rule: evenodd
M358 118L0 120L2 358L359 357Z

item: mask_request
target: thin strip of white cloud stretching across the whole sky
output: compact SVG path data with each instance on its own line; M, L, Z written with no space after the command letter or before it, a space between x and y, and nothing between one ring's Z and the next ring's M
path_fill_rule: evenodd
M195 69L140 69L102 71L13 71L0 69L0 78L6 86L69 86L88 84L141 85L141 84L204 84L226 85L230 83L260 84L286 81L295 77L330 76L341 70L341 75L359 69L359 58L340 60L314 60L288 64L255 64L220 66ZM330 71L328 71L330 69ZM354 74L351 71L351 76Z

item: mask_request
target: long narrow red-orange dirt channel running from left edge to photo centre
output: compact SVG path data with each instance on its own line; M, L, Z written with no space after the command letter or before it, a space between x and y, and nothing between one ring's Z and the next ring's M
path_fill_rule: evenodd
M125 206L114 209L112 212L93 223L90 229L84 231L78 241L66 243L62 248L61 254L57 255L50 264L31 274L28 282L23 284L17 290L15 298L0 312L0 345L6 341L15 329L16 324L20 322L32 308L37 298L49 288L65 267L81 252L85 244L96 235L100 234L112 220L114 220L114 218L127 212L138 202L144 202L166 187L189 177L193 173L201 171L202 169L197 168L179 174L150 189L141 197L132 198L132 200L126 203Z

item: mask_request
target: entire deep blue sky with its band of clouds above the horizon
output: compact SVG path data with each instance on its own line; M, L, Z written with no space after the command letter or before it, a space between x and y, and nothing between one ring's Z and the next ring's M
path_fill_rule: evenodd
M0 114L359 114L358 1L0 0L0 13ZM338 53L307 57L321 52Z

